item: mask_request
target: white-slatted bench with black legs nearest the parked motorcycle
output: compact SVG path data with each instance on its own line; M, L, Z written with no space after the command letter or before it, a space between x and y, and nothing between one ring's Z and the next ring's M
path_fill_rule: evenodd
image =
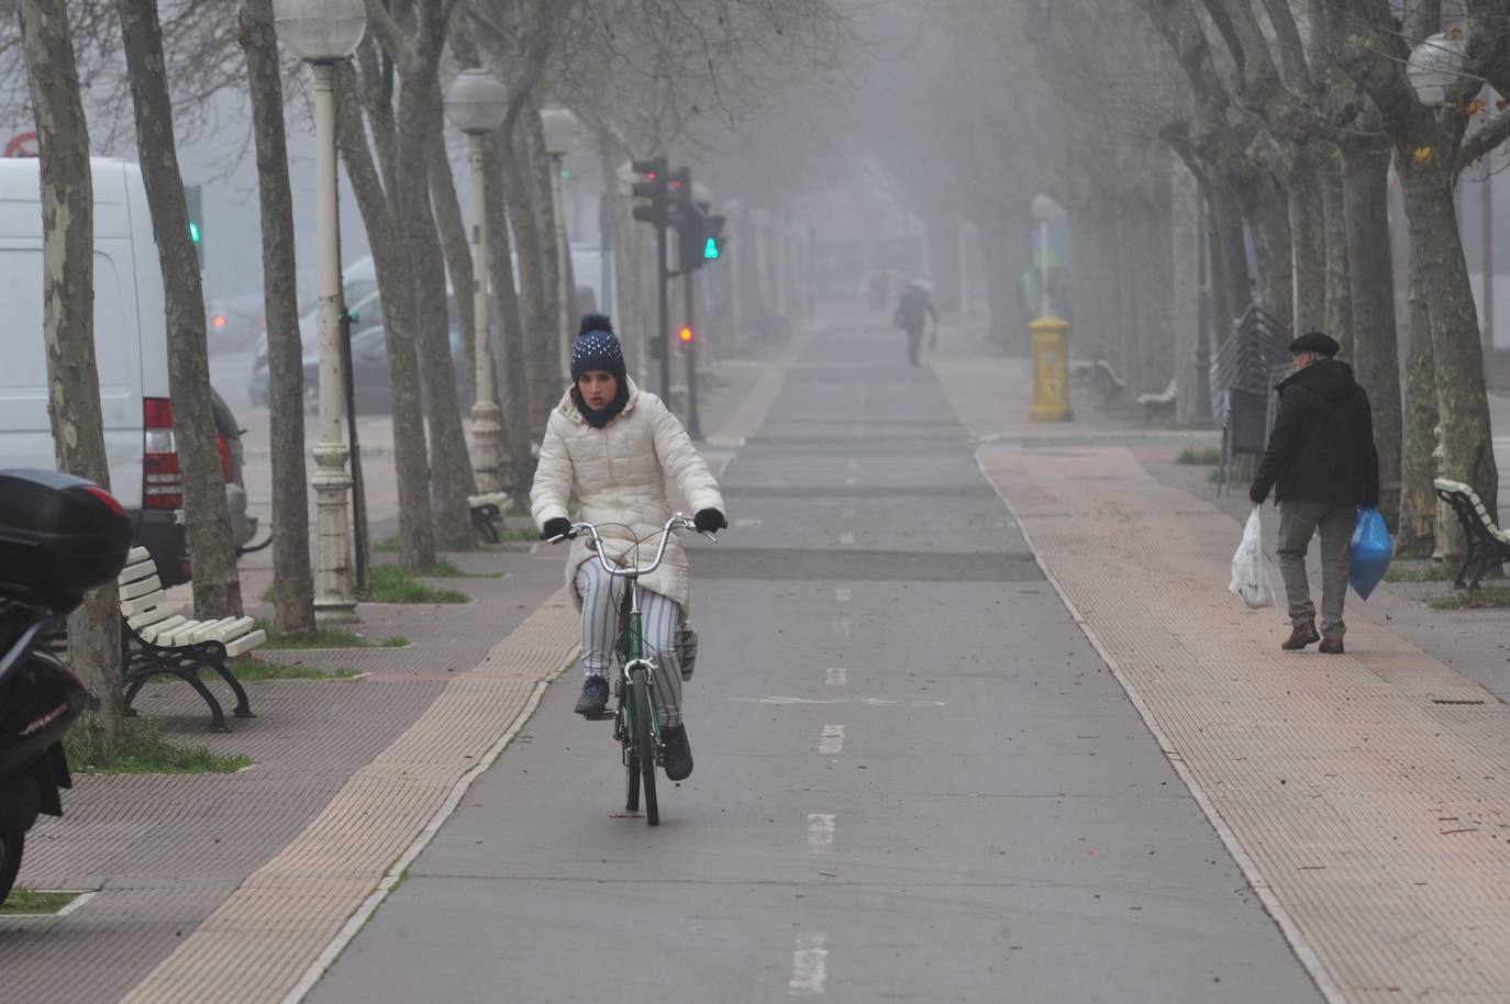
M198 690L210 705L210 728L216 732L228 731L220 702L199 678L199 670L211 669L236 693L236 717L254 717L246 690L226 669L225 660L243 655L266 642L266 631L257 630L251 617L192 621L181 611L163 605L168 595L146 548L131 548L118 583L127 714L136 714L131 701L148 678L178 676Z

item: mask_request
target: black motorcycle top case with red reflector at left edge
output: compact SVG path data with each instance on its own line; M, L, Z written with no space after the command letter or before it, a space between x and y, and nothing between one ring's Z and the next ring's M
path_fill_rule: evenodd
M130 550L130 518L94 482L0 471L0 593L66 604L115 581Z

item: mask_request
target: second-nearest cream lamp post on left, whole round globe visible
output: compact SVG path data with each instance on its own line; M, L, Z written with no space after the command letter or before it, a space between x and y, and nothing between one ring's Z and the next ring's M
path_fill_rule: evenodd
M503 414L494 400L492 337L488 325L488 208L483 201L483 142L488 133L503 124L509 110L509 95L486 69L464 69L445 89L445 116L467 133L467 151L473 183L473 314L477 337L473 347L473 460L477 489L495 492L504 483Z

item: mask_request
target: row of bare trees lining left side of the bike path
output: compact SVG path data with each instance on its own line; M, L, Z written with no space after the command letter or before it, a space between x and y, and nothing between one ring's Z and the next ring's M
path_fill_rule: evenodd
M300 115L304 79L278 47L273 0L18 3L21 32L5 44L26 56L39 134L59 465L109 483L92 362L91 140L83 95L109 131L118 113L112 95L128 92L165 276L169 377L201 617L240 614L242 598L210 420L204 297L175 116L189 134L204 136L211 121L202 110L211 98L228 89L249 95L272 399L275 624L285 633L310 633L304 346L285 119L285 109ZM442 80L486 66L509 94L507 115L485 154L485 216L492 234L489 282L506 453L512 488L524 494L533 476L532 441L560 393L557 332L560 313L569 310L557 293L559 270L569 261L559 260L554 242L542 104L569 104L584 119L610 178L615 219L627 220L612 184L619 162L689 142L699 119L737 121L749 113L794 66L817 63L844 20L829 3L811 0L367 0L367 36L337 74L338 146L382 294L400 562L427 568L436 548L473 542L467 497L474 482L445 308L447 275L453 288L470 290L473 263L442 133ZM471 297L456 300L470 350L488 332L477 328ZM116 732L113 590L91 596L72 631L88 639L76 652L92 690L110 696L97 722Z

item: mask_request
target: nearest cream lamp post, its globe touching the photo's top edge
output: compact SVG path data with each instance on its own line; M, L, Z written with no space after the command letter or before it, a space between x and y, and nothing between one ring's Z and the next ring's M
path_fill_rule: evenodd
M356 619L352 592L350 525L346 473L349 450L341 438L343 370L341 252L335 180L335 65L346 60L367 32L362 0L273 0L278 39L314 69L316 220L320 260L320 442L314 447L316 568L314 613L325 622Z

